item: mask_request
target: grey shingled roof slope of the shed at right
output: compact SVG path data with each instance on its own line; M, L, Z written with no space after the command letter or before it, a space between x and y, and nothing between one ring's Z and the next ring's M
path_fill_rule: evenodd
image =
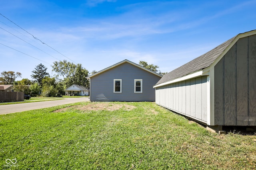
M236 36L235 36L236 37ZM186 76L190 73L196 72L198 70L202 70L210 66L221 54L222 52L230 45L230 43L234 40L234 38L229 39L228 41L222 43L218 47L215 47L211 51L208 51L204 55L197 57L196 59L172 70L171 72L165 74L157 83L161 84L164 82L168 82L170 80L174 80L176 78L180 78Z

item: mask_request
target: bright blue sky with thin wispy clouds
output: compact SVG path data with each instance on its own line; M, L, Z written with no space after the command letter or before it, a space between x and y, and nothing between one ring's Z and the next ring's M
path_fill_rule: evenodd
M0 72L32 80L42 63L53 76L64 59L89 72L124 59L170 72L256 29L255 9L256 0L2 0L3 16L61 54L0 16Z

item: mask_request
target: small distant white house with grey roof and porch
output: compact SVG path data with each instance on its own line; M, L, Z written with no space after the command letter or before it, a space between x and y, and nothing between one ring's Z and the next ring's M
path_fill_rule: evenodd
M88 88L76 84L66 88L64 91L66 96L89 96Z

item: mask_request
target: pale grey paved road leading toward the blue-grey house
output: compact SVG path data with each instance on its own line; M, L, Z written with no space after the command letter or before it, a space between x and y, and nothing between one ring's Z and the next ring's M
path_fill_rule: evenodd
M0 115L86 101L89 101L89 98L65 98L63 100L0 105Z

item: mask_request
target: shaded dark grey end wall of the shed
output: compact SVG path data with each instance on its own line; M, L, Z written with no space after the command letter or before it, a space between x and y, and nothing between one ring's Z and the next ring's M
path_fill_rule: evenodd
M256 125L256 35L239 39L214 67L216 125Z

